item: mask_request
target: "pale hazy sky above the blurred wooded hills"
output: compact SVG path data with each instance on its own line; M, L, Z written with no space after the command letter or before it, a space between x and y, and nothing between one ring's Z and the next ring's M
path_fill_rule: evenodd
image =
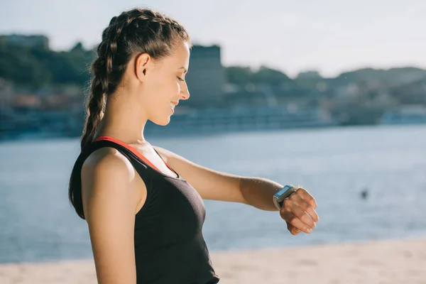
M266 65L295 77L362 67L426 68L425 0L0 0L0 34L43 34L50 48L99 43L112 16L156 9L192 42L217 44L222 64Z

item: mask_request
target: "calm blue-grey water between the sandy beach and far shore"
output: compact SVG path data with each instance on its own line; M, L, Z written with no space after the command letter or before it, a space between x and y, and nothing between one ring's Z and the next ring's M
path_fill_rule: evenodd
M155 138L215 170L301 184L320 222L292 236L277 212L205 201L210 251L426 236L426 126ZM78 139L0 144L0 263L90 258L86 223L67 201ZM362 200L361 190L369 197Z

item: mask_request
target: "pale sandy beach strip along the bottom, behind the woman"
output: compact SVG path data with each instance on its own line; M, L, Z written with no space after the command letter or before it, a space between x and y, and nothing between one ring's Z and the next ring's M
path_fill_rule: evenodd
M220 283L426 283L426 239L212 252ZM92 260L0 265L0 283L97 283Z

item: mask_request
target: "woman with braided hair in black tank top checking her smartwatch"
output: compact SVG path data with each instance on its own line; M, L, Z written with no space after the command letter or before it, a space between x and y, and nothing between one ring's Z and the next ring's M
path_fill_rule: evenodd
M149 9L121 13L102 33L69 192L89 226L99 283L217 283L202 200L278 211L278 183L203 168L143 137L148 120L168 124L190 97L190 46L185 28ZM280 215L291 234L310 233L315 208L299 188Z

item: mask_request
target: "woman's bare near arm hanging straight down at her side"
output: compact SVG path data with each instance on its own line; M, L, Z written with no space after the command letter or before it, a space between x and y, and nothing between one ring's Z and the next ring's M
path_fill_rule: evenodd
M82 168L82 200L99 284L135 283L135 170L124 156L101 149ZM97 153L98 152L98 153ZM100 154L100 155L99 155Z

